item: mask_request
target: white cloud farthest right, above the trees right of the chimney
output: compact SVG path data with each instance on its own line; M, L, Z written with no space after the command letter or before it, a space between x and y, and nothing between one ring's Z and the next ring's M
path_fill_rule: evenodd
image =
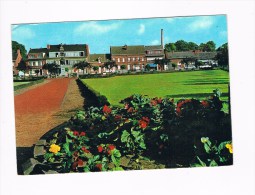
M190 32L198 31L198 30L206 30L212 27L214 20L212 17L202 16L199 19L191 22L187 28Z

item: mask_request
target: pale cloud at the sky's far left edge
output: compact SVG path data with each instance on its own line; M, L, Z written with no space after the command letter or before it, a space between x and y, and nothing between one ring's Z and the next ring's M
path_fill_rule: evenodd
M12 25L12 36L17 40L31 39L35 37L35 32L29 27Z

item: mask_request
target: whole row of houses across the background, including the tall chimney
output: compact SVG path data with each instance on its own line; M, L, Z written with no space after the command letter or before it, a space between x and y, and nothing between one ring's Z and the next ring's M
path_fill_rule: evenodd
M13 71L18 74L16 67L18 66L20 52L17 51L13 55ZM187 66L183 63L183 59L192 58L207 63L217 63L214 58L216 52L202 51L185 51L185 52L165 52L163 42L163 30L161 29L161 44L160 45L123 45L111 46L110 53L106 54L90 54L88 44L59 44L47 45L45 48L30 49L27 55L26 64L30 67L29 74L39 75L47 74L47 70L43 70L43 65L46 63L56 63L60 65L60 75L68 73L80 73L81 70L73 68L73 65L86 61L91 66L98 66L97 73L117 72L121 70L121 66L125 65L126 71L141 71L146 65L156 70L173 69L172 63L177 64L177 69L182 69ZM169 59L171 63L166 63L164 66L155 64L155 59ZM111 70L104 68L104 63L115 61L116 67ZM192 64L192 62L191 62ZM39 70L39 71L36 71ZM85 73L94 73L93 69L85 70Z

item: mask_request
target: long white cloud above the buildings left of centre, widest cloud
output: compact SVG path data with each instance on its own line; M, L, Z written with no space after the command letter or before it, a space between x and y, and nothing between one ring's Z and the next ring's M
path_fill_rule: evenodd
M89 34L103 34L110 32L112 30L118 29L121 23L112 23L108 25L98 24L97 22L86 22L74 29L74 33L82 34L82 33L89 33Z

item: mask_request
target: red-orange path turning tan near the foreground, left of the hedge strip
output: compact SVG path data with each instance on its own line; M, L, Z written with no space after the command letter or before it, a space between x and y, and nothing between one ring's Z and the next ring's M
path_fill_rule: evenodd
M14 97L17 147L32 146L58 125L52 115L61 108L70 81L69 78L52 79Z

